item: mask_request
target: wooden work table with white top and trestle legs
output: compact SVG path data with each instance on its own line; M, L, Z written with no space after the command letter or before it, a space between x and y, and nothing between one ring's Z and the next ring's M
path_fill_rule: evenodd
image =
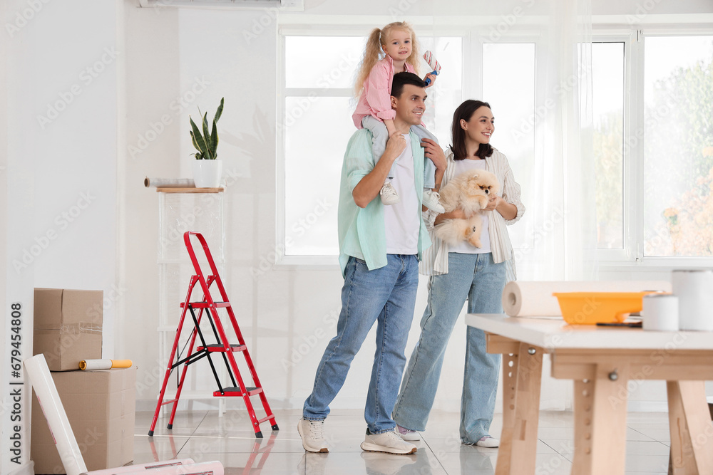
M563 320L466 315L503 354L503 433L496 475L535 474L543 354L552 375L574 380L576 475L624 475L629 392L666 380L672 473L713 474L713 333L568 325Z

